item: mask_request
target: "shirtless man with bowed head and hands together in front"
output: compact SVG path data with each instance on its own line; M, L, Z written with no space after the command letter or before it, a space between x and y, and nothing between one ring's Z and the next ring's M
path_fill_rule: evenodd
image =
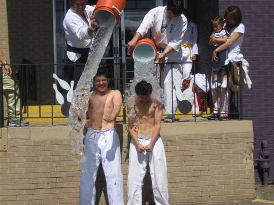
M162 102L151 99L152 86L145 80L135 86L136 117L128 119L131 136L127 193L129 205L142 204L142 186L149 163L156 205L168 205L167 169L160 138Z

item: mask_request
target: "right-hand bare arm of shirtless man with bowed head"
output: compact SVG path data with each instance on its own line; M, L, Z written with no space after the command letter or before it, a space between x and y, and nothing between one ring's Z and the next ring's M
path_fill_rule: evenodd
M154 130L152 131L151 141L149 145L146 146L147 152L152 152L154 144L160 135L162 113L163 113L162 102L160 99L158 99L158 101L156 102L156 107L154 112Z

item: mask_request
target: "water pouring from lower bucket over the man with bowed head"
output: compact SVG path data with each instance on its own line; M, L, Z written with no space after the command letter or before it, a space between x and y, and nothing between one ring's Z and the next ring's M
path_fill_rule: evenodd
M163 89L160 87L160 82L157 80L153 74L154 72L154 56L144 57L134 59L134 78L130 80L130 84L125 91L125 103L128 109L128 116L134 118L135 113L135 104L137 101L137 95L135 93L135 86L141 80L146 80L152 85L152 94L151 99L154 102L156 98L163 97Z

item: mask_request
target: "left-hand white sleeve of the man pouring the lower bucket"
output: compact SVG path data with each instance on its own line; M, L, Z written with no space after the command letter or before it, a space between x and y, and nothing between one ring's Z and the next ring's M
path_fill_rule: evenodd
M142 37L144 35L146 35L146 33L149 31L149 29L154 25L156 13L157 13L157 8L154 8L154 9L150 10L144 17L138 30L136 31L136 32L140 33L142 35Z

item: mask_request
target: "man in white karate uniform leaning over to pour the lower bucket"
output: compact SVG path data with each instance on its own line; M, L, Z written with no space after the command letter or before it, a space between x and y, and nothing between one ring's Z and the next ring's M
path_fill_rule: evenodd
M164 106L166 114L164 121L172 122L178 108L173 81L182 80L181 44L187 29L187 19L183 15L184 5L182 1L167 0L166 4L167 6L156 7L146 14L135 35L128 42L128 52L131 52L138 40L151 29L152 40L161 52L156 60L167 63L164 67Z

